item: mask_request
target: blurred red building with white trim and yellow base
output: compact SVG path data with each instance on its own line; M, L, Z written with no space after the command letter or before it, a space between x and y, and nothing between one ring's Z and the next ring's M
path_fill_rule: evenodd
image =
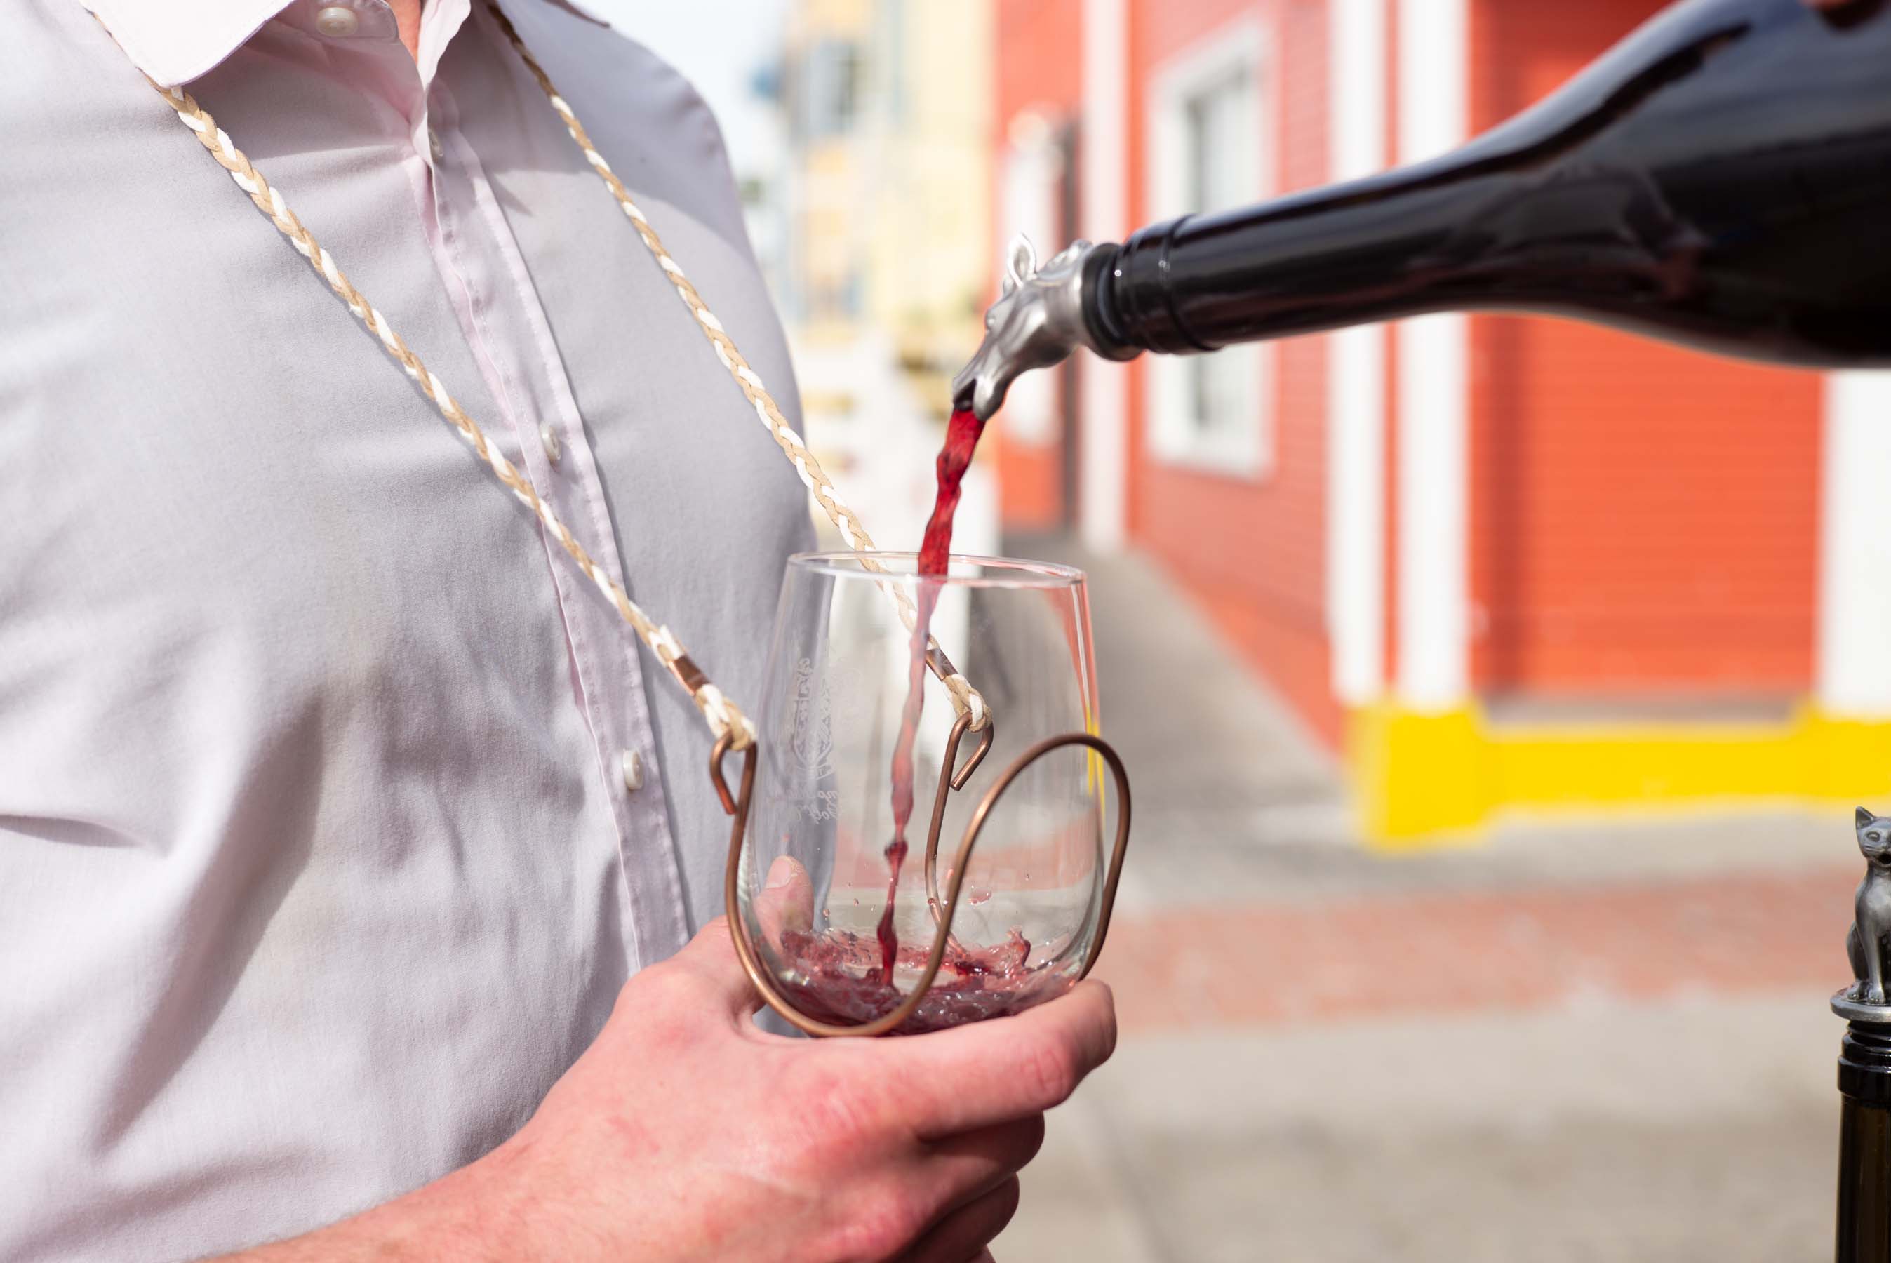
M1121 240L1431 157L1657 8L998 0L993 236ZM1089 359L1014 389L1002 516L1159 556L1390 845L1882 798L1887 376L1507 316Z

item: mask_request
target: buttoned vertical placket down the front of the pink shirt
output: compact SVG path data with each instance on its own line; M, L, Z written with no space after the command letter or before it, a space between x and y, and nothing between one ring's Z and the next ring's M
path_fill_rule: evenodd
M471 32L461 32L467 38ZM598 569L632 590L577 399L539 304L524 255L505 221L478 155L460 130L441 79L420 85L410 112L422 219L460 329L480 376L512 431L533 490L584 545ZM548 106L546 106L548 108ZM524 529L524 528L522 528ZM632 968L673 953L688 938L683 874L669 830L664 783L651 760L656 734L643 690L637 643L616 611L539 528L558 594L565 652L592 734L596 773L616 824L630 898Z

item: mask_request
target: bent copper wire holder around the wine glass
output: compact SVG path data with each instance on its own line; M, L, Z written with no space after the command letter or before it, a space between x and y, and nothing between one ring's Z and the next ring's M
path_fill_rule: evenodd
M722 874L722 902L728 909L728 936L736 943L736 959L741 960L741 968L749 974L749 981L755 983L762 1000L768 1008L781 1013L783 1021L790 1023L798 1030L813 1036L876 1036L894 1030L900 1023L913 1015L919 1004L927 998L927 993L932 989L932 979L938 978L940 964L946 960L946 945L951 942L951 921L959 911L959 891L964 887L966 860L972 858L972 847L978 845L978 834L985 828L991 809L1025 768L1034 764L1044 754L1067 745L1082 745L1095 751L1102 762L1108 764L1110 777L1116 781L1116 845L1110 849L1110 868L1102 879L1102 906L1097 909L1097 932L1089 940L1084 955L1084 966L1078 970L1078 979L1084 979L1089 974L1099 953L1102 953L1102 940L1110 932L1110 909L1116 908L1116 883L1123 875L1123 855L1129 851L1129 773L1123 771L1123 760L1108 741L1087 732L1067 732L1057 737L1046 737L1019 754L993 783L993 787L985 790L985 796L972 811L972 819L964 826L964 836L959 838L959 851L953 855L951 868L947 870L951 877L946 881L946 898L942 902L938 887L938 845L940 826L946 821L946 794L966 787L972 773L978 771L978 766L985 762L985 754L991 751L991 739L995 735L995 724L987 720L985 728L978 734L978 749L974 749L964 760L964 766L955 771L953 768L959 762L959 741L970 726L970 715L961 715L959 722L953 724L951 735L946 739L946 756L940 760L938 790L932 794L932 824L927 830L925 877L927 908L932 913L936 928L932 932L932 951L927 955L927 966L921 970L919 981L913 983L911 993L900 1000L898 1008L857 1025L819 1021L800 1012L794 1008L794 1002L781 993L781 987L775 985L773 974L770 974L770 970L762 964L762 959L755 949L755 942L749 938L749 926L737 902L741 891L741 843L749 832L749 800L755 790L755 756L758 743L751 743L749 749L743 751L741 788L736 794L730 794L728 781L722 777L722 758L730 751L730 737L720 737L715 743L715 749L709 751L709 781L715 785L717 798L722 800L722 809L734 817L728 834L728 866Z

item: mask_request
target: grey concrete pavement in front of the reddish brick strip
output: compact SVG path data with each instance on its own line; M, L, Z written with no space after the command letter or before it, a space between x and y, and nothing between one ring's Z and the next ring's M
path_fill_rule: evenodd
M1819 993L1127 1038L1002 1263L1813 1263Z

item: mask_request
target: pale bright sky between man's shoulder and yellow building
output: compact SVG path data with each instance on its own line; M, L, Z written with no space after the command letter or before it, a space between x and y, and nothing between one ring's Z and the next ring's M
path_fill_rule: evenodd
M755 68L781 47L789 0L584 0L616 30L683 72L722 123L737 172L766 166L770 119L751 91Z

